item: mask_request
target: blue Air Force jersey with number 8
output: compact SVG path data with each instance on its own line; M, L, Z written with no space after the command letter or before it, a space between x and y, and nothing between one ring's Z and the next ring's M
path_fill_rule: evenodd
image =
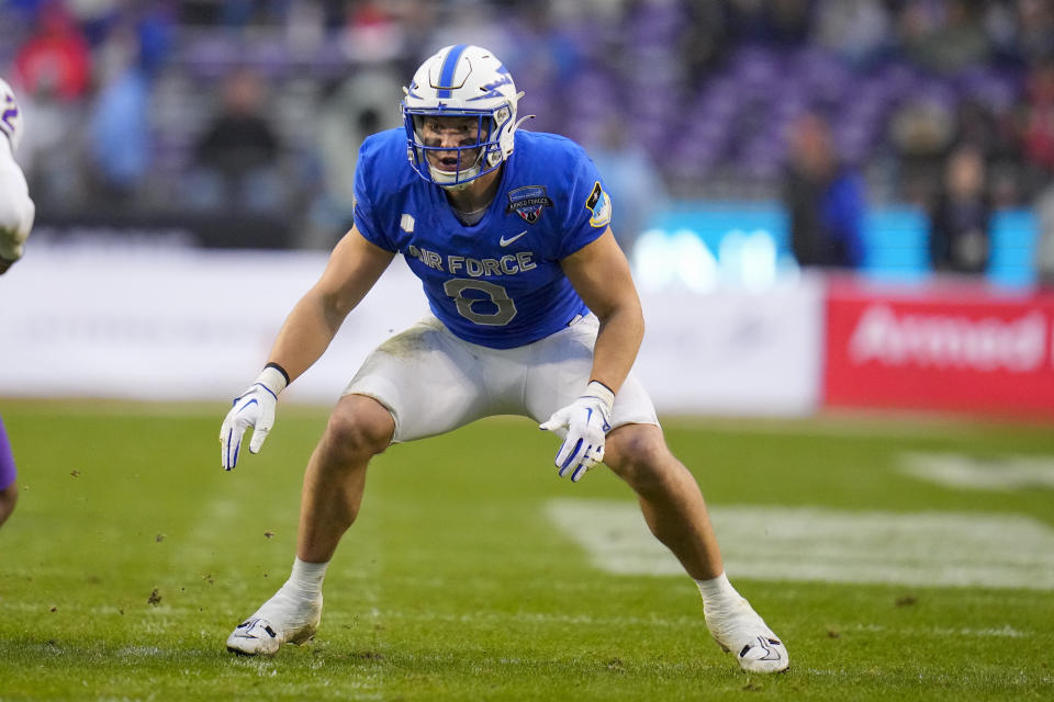
M406 133L381 132L359 151L355 224L405 257L450 331L509 349L586 314L560 259L604 234L610 201L585 151L553 134L517 132L500 178L483 218L466 226L444 190L411 168Z

